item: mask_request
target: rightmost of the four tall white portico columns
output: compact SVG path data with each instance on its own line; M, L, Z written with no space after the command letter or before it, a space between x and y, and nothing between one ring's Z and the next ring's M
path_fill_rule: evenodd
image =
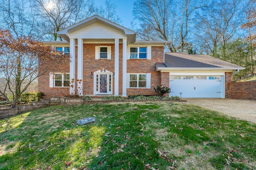
M123 97L126 97L126 74L127 74L127 59L126 59L126 53L127 53L127 38L123 38Z

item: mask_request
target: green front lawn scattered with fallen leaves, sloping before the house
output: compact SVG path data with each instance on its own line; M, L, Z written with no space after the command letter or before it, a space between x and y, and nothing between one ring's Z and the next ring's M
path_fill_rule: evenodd
M190 104L52 106L0 120L0 169L249 170L255 141L255 124Z

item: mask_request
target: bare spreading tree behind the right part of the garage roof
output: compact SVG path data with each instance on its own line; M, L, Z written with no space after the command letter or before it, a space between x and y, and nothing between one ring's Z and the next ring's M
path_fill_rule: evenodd
M207 44L211 54L220 59L226 58L226 43L232 39L240 26L240 0L213 0L208 8L198 14L198 38ZM204 16L203 16L203 15ZM210 42L209 42L210 41ZM216 48L222 45L222 55L216 55Z

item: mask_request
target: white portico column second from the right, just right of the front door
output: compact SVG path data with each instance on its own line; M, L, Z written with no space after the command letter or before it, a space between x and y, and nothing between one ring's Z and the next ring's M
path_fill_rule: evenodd
M119 39L115 39L115 96L119 93Z

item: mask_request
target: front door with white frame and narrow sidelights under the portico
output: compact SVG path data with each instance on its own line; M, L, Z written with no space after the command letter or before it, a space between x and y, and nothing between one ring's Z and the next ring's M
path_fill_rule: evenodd
M95 94L112 94L112 73L95 72Z

